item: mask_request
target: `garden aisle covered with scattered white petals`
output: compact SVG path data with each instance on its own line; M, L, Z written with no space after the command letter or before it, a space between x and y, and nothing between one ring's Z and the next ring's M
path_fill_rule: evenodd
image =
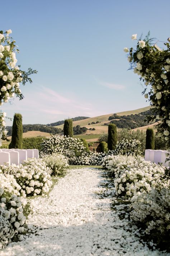
M9 244L0 256L170 255L151 251L130 228L121 207L111 210L114 189L93 168L73 169L55 185L49 197L36 197L29 216L30 232ZM32 226L33 225L33 226Z

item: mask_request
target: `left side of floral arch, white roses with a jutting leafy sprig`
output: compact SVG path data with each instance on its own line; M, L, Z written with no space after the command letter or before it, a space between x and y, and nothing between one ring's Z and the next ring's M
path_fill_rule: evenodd
M20 99L23 99L23 94L20 90L20 82L23 85L27 81L32 82L29 75L37 73L36 70L28 68L28 71L20 70L20 66L16 66L16 49L15 40L9 35L12 31L6 30L6 32L0 31L0 105L8 102L9 99L15 95ZM5 116L6 113L0 112L0 139L6 136L5 130Z

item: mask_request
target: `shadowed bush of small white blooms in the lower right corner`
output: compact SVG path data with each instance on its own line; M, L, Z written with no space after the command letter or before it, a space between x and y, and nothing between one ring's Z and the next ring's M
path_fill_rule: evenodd
M170 230L170 189L152 189L132 200L131 220L146 224L146 234L157 232L158 236Z

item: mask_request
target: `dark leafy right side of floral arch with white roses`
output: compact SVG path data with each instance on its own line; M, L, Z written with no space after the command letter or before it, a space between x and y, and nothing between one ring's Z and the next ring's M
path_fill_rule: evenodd
M132 35L132 40L137 40L137 34ZM124 51L129 53L131 69L145 84L142 93L154 107L155 115L148 117L148 121L160 120L158 131L170 144L170 44L164 43L166 49L161 50L152 44L149 33L144 40L137 41L136 49L124 48Z

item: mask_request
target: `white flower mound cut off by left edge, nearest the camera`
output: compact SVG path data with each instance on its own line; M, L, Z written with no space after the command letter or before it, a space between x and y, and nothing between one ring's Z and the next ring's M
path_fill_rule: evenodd
M29 212L26 205L25 193L14 176L0 170L0 249L24 232L25 215Z

